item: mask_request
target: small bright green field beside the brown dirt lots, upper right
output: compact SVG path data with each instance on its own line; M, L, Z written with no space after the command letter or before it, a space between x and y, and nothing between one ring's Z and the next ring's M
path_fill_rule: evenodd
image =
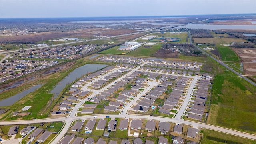
M240 58L229 46L216 45L216 49L219 51L222 61L240 62Z

